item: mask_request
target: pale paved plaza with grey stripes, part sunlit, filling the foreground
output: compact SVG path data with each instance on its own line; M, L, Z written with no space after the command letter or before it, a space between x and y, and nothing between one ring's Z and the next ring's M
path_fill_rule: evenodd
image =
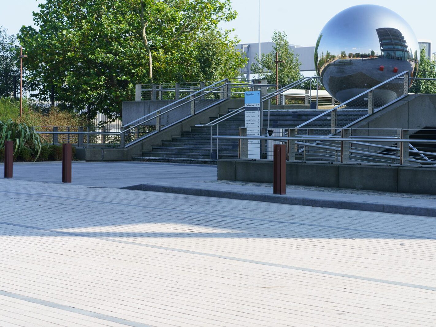
M61 184L57 165L0 178L1 327L436 321L436 218L116 188L159 174L233 187L210 166L76 163Z

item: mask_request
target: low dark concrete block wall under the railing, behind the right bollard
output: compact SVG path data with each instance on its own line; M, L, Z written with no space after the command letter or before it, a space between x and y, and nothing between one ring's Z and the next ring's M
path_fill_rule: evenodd
M218 180L272 183L272 161L218 160ZM436 194L436 169L287 162L286 184Z

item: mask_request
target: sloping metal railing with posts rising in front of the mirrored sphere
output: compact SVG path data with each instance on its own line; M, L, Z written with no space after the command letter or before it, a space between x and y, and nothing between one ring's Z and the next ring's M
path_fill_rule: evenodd
M389 78L375 87L354 96L333 109L300 124L297 128L310 129L312 134L327 135L340 133L341 129L352 126L374 112L390 106L409 94L409 72L405 71Z

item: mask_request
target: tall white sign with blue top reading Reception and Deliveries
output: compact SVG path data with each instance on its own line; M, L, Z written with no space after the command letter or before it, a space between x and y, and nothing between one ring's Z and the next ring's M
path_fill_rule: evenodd
M260 111L260 91L245 92L245 127L247 136L260 136L262 115ZM260 159L260 140L248 140L248 158Z

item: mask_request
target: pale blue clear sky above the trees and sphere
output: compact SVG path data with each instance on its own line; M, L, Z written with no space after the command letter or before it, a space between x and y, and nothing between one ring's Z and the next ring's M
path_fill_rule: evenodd
M32 11L44 0L0 0L0 25L16 34L22 25L32 24ZM72 0L73 1L73 0ZM238 18L221 24L235 28L244 43L258 40L258 0L232 0ZM356 4L373 3L388 7L401 15L415 31L416 37L433 41L436 51L436 1L434 0L261 0L261 41L270 41L274 30L285 31L292 44L314 45L327 20L339 11ZM419 4L414 6L414 4Z

